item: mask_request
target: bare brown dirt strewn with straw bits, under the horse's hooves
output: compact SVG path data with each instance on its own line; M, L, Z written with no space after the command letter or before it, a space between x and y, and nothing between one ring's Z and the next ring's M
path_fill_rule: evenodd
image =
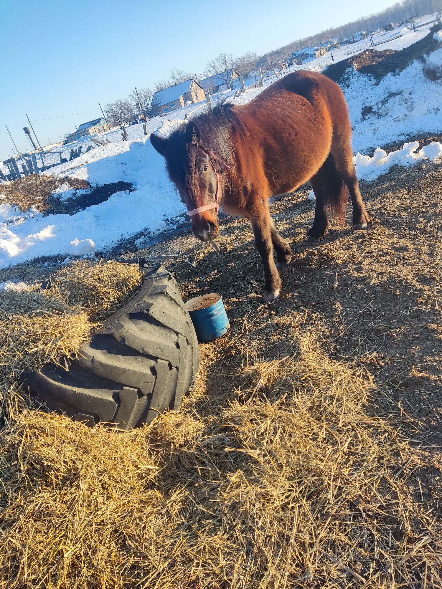
M184 300L220 292L234 329L268 322L269 341L258 350L264 359L279 358L287 317L301 312L328 353L367 367L390 391L377 399L382 411L395 422L407 421L407 435L427 455L418 477L422 492L428 490L425 503L434 503L434 515L441 517L431 489L437 487L433 467L442 467L442 164L396 168L361 183L361 192L370 228L354 231L348 217L347 227L331 226L318 246L305 240L314 215L308 190L275 199L271 212L293 259L281 271L281 299L272 306L263 305L262 264L243 219L222 222L219 254L206 246L196 257L166 266ZM194 244L193 237L171 238L136 254L179 253ZM238 353L228 339L202 346L203 362L215 355L220 373L230 370L231 355ZM210 379L216 397L217 377L209 369Z

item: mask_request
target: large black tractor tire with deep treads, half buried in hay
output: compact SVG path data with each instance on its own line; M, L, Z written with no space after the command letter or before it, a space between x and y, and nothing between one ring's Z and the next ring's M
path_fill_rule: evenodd
M173 276L157 264L127 305L85 343L68 370L52 363L23 373L31 398L94 426L127 431L179 411L199 369L199 348Z

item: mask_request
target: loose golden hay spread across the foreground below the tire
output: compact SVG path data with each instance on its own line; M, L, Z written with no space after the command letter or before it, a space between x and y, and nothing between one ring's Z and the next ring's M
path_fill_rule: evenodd
M370 380L294 337L215 415L116 435L23 412L0 443L0 586L439 587L417 455L367 413Z

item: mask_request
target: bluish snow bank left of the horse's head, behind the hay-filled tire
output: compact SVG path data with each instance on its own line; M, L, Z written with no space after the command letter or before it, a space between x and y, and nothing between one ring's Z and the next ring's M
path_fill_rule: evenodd
M164 126L162 133L170 131L172 124ZM79 163L83 165L70 169ZM44 217L37 211L21 213L0 204L0 267L42 256L89 256L137 233L146 234L146 239L161 233L186 213L170 184L164 160L150 141L109 144L51 172L84 178L93 185L124 180L135 190L113 194L107 201L74 215Z

